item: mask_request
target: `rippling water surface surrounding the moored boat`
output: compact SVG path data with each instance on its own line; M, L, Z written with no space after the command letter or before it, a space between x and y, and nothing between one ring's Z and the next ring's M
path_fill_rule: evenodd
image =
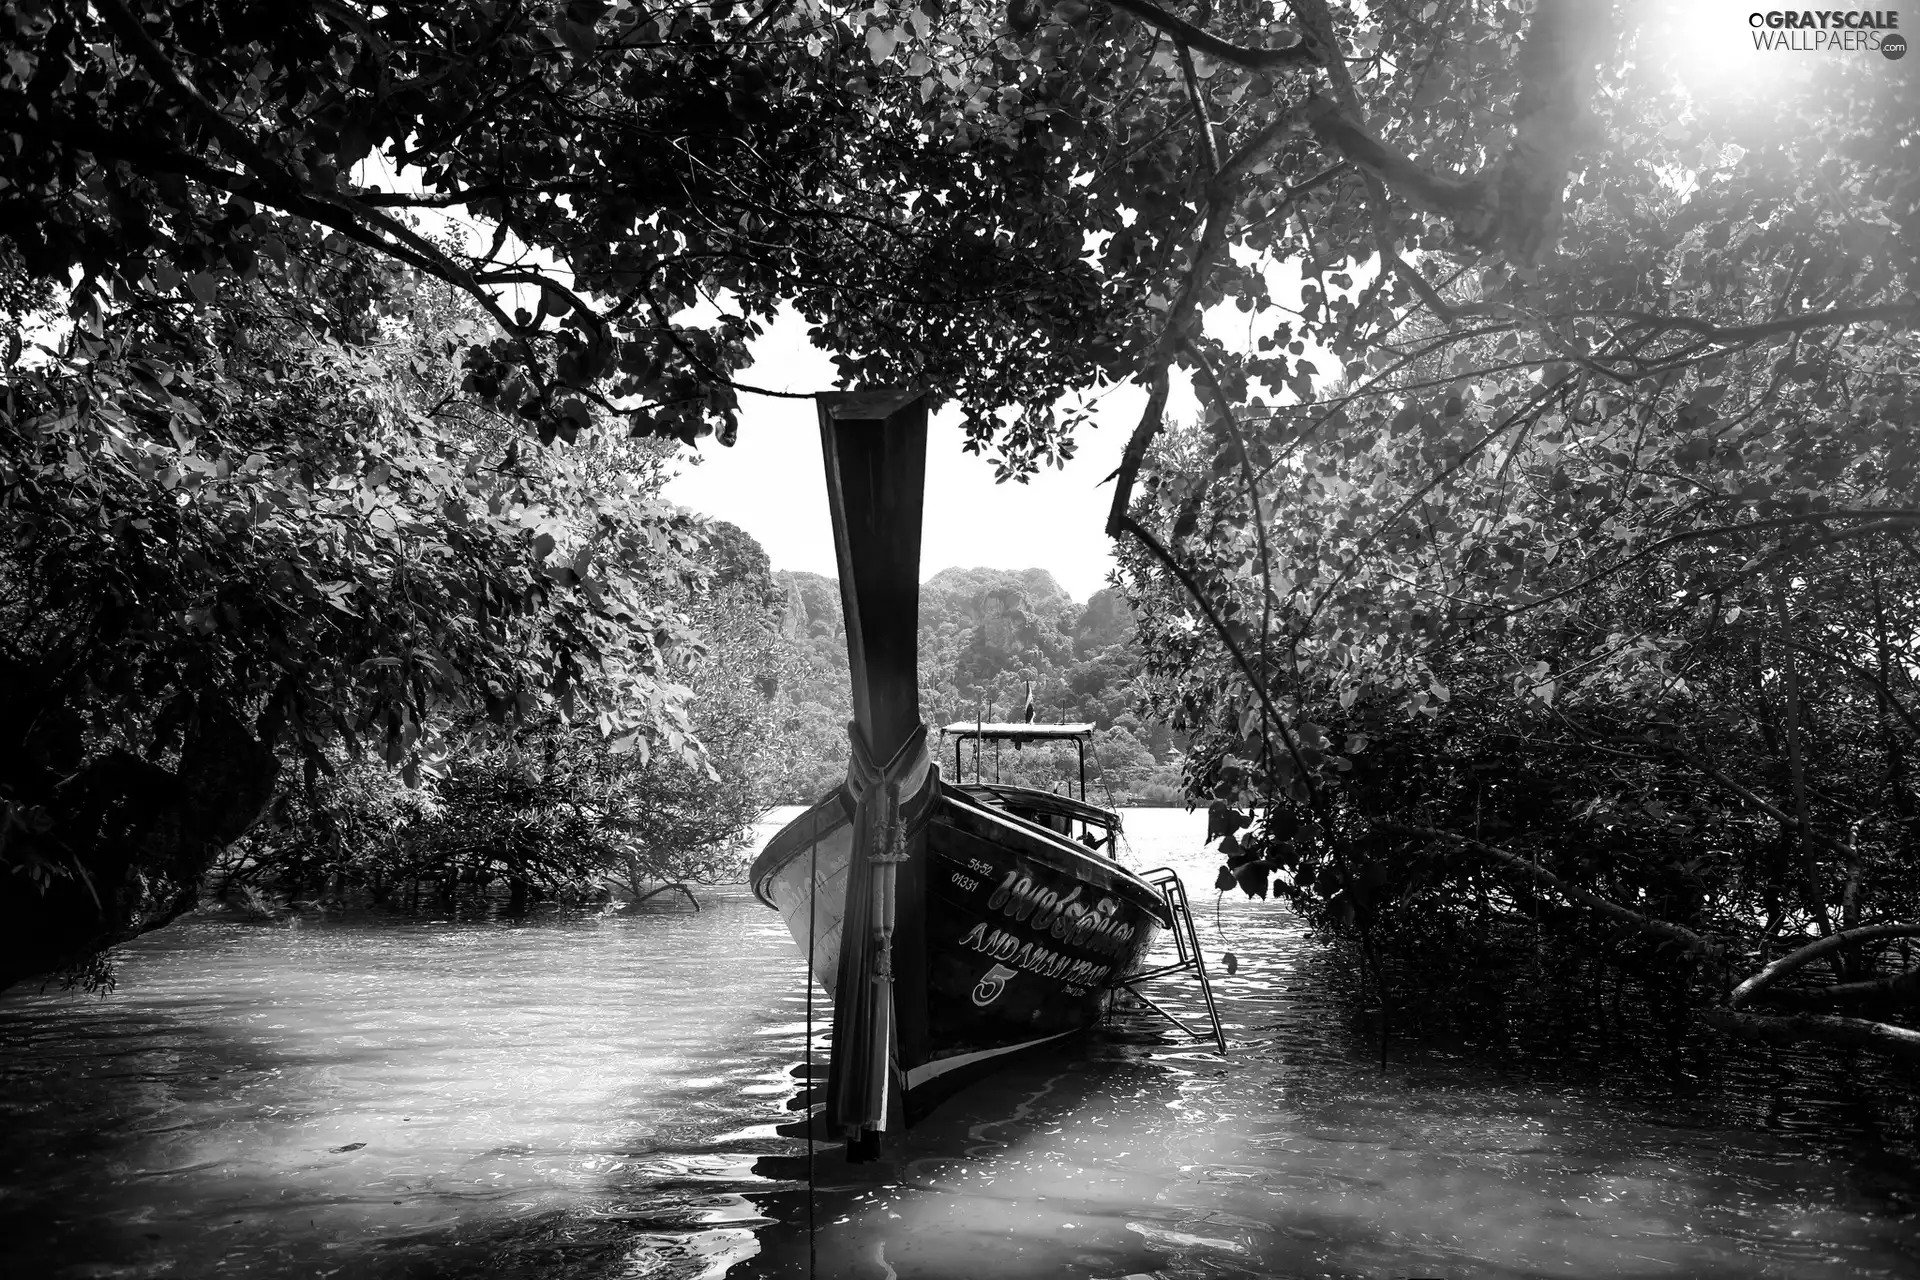
M1129 816L1133 865L1173 862L1210 958L1240 958L1233 1055L1127 1019L877 1165L822 1153L816 1274L1920 1274L1912 1150L1849 1063L1755 1057L1693 1092L1432 1050L1382 1075L1350 975L1284 910L1215 921L1202 833ZM774 1132L799 956L745 890L701 900L200 919L127 948L106 1000L0 996L6 1274L804 1276L804 1150Z

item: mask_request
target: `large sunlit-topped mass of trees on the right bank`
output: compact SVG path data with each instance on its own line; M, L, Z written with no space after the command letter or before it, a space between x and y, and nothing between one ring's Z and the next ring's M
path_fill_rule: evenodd
M1640 35L1559 257L1321 330L1340 374L1296 403L1194 347L1210 420L1127 512L1148 666L1196 794L1261 808L1223 812L1223 883L1380 973L1626 967L1738 1034L1914 1054L1910 79L1715 98Z

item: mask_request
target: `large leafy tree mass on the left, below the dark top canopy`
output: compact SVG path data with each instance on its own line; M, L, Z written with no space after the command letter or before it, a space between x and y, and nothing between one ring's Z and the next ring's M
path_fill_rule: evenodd
M344 760L411 785L451 733L538 714L693 754L666 601L699 535L657 459L522 451L457 397L455 296L305 269L134 301L12 370L0 979L171 919Z

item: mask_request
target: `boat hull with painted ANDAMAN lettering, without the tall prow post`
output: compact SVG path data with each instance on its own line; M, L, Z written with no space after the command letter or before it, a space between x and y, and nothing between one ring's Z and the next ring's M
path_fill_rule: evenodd
M895 973L895 998L925 1009L925 1036L902 1040L897 1063L908 1121L1012 1055L1096 1025L1112 983L1140 969L1165 923L1158 890L1125 867L937 785L918 877L925 946L916 971ZM776 835L751 873L803 954L812 942L812 975L828 996L839 973L849 810L835 791Z

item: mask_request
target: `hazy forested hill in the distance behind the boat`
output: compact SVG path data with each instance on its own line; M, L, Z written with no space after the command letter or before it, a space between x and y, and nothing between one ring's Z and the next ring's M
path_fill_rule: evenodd
M845 771L847 633L835 580L780 572L774 581L785 591L787 727L806 743L776 798L799 804ZM1094 591L1083 604L1043 568L941 570L920 587L922 714L935 729L975 716L1018 718L1031 681L1035 720L1098 727L1089 760L1094 798L1173 802L1179 750L1164 723L1142 723L1135 712L1133 635L1133 612L1116 591ZM991 777L991 756L985 770ZM1006 781L1062 785L1075 771L1071 748L1002 750L1000 758Z

